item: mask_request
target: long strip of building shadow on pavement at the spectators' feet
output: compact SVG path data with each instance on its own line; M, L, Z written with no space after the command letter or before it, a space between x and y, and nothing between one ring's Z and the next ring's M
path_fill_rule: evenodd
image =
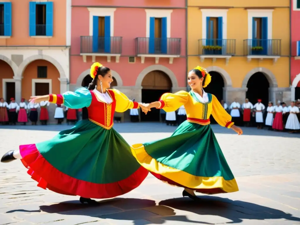
M0 126L0 129L19 129L19 130L36 130L36 131L62 131L72 128L73 125L5 125ZM226 129L220 125L211 125L214 133L216 134L235 134L231 129ZM115 123L113 126L119 133L173 133L176 130L176 126L167 126L158 122L140 122L140 123ZM300 137L300 133L289 134L288 132L276 132L268 131L266 129L257 130L254 127L241 127L244 131L244 135L258 135L258 136L273 136L273 137Z

